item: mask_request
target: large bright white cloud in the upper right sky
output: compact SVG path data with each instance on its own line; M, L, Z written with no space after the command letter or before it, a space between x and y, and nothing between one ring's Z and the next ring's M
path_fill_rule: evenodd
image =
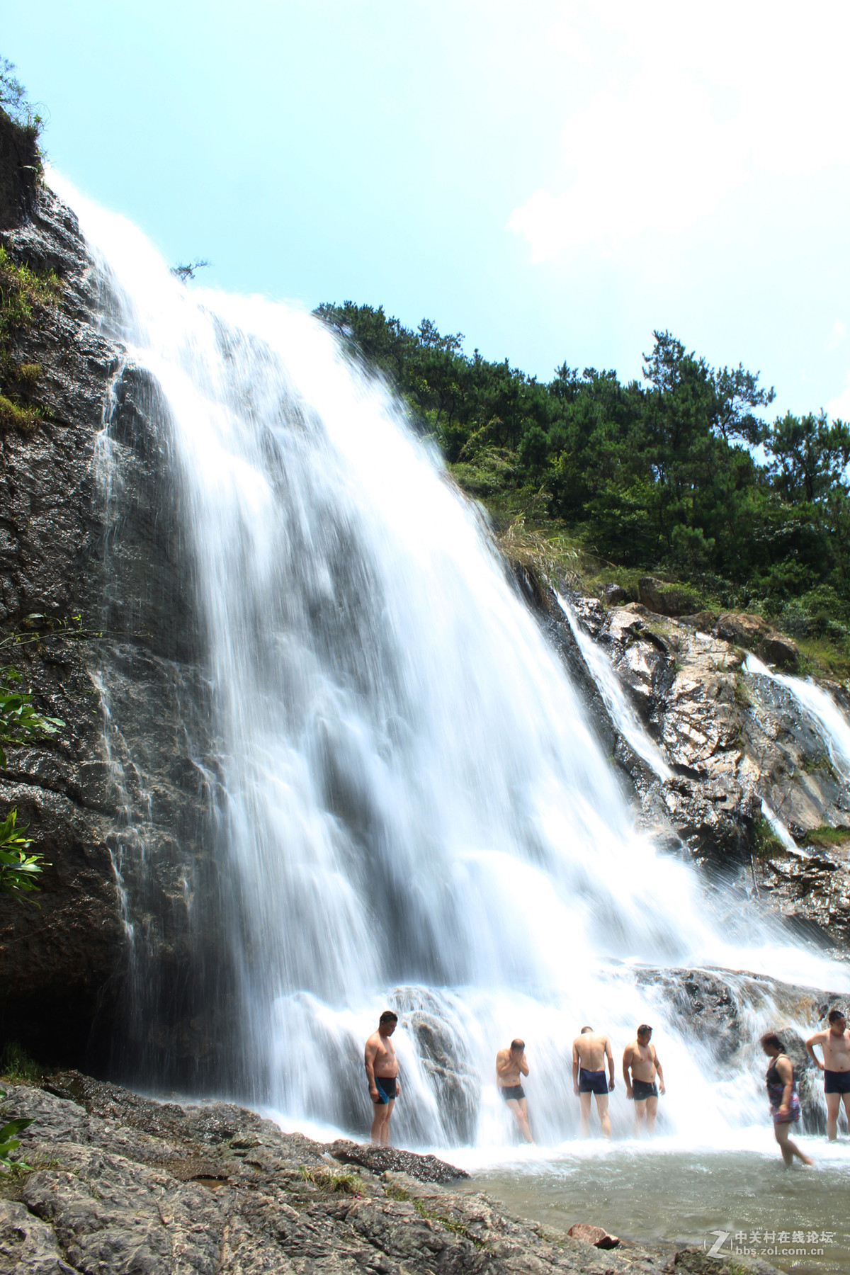
M533 260L674 235L746 184L850 167L850 6L552 9L547 55L562 60L566 116L559 176L507 223Z

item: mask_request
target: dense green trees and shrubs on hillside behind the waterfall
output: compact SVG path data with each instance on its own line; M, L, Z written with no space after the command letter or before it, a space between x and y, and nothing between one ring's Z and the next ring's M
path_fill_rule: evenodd
M774 390L715 368L669 332L644 380L563 363L551 381L464 353L382 307L322 305L404 399L497 534L594 585L686 585L693 611L751 609L804 664L850 672L850 426L823 412L768 422Z

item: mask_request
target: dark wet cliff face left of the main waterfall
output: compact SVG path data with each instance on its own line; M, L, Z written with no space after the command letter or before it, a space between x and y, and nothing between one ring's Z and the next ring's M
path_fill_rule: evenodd
M1 808L17 806L50 863L38 907L0 896L3 1035L43 1061L196 1072L214 1065L227 974L217 960L201 1003L187 973L220 936L190 917L213 871L215 764L178 497L150 427L155 386L102 335L108 297L76 219L22 145L0 112L0 242L14 265L54 270L61 293L4 351L37 367L40 419L0 435L0 626L6 658L68 727L55 747L11 750L0 773Z

